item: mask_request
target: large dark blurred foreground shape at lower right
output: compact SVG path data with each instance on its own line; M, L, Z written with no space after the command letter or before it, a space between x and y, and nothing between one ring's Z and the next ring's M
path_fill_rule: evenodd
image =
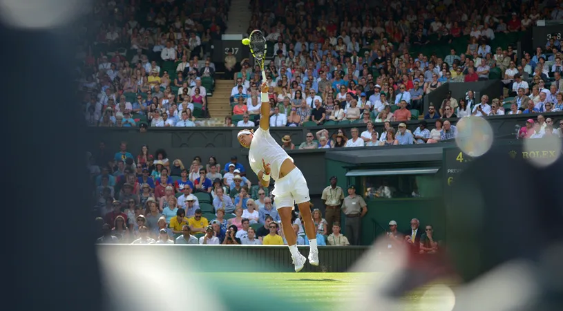
M387 243L376 243L370 253L381 263L358 269L391 273L364 302L376 305L370 310L404 308L401 296L452 276L459 279L452 310L562 310L563 159L540 168L507 158L493 147L457 178L445 252L405 247L388 256Z

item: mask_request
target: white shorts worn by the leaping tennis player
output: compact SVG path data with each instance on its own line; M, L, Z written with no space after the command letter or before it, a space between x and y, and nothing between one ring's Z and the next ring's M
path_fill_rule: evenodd
M309 202L309 187L303 173L296 167L286 176L276 180L274 191L271 191L276 198L276 208L294 207L294 205Z

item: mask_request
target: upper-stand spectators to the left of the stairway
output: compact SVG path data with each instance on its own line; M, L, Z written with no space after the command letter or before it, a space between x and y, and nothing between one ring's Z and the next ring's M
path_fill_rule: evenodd
M76 59L90 126L194 126L205 117L211 40L229 1L96 1Z

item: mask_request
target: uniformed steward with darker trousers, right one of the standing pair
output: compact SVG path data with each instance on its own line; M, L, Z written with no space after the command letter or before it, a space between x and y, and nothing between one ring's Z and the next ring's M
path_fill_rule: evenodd
M346 215L345 234L350 245L361 245L362 218L368 213L368 205L361 196L356 195L356 187L348 187L348 196L342 203L342 211Z

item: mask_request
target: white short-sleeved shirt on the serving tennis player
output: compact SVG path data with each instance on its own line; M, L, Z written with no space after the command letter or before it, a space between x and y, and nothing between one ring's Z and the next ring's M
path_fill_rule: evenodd
M248 160L252 171L254 171L256 175L258 175L259 171L264 171L264 165L262 164L262 159L264 159L266 164L270 164L271 178L277 180L280 176L281 164L287 158L292 159L292 157L288 156L287 152L282 149L278 142L271 137L270 131L265 131L258 127L258 130L254 133L254 137L250 143L248 153Z

